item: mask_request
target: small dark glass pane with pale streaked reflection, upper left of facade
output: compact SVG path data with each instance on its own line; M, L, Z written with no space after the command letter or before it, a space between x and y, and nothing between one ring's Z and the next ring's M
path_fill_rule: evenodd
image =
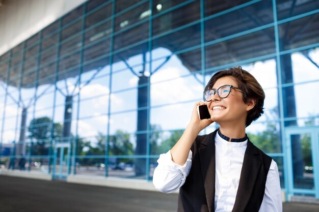
M105 38L105 36L110 35L112 32L111 21L103 23L90 31L85 33L85 45L92 43L94 41Z

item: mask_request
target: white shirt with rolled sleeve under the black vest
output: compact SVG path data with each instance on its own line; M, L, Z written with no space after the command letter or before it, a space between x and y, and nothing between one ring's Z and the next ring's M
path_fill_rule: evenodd
M215 137L216 178L215 178L215 211L231 211L240 181L247 140L228 142L218 133ZM170 151L159 156L158 166L154 170L153 184L164 193L178 190L190 173L193 153L190 150L187 161L180 166L172 161ZM259 212L281 212L282 200L278 167L272 160L265 191Z

